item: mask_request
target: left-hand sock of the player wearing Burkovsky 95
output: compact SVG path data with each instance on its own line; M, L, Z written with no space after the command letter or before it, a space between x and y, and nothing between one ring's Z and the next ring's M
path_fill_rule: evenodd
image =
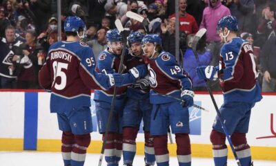
M63 131L61 137L61 154L64 166L70 165L71 151L74 144L74 135L71 133L71 131Z

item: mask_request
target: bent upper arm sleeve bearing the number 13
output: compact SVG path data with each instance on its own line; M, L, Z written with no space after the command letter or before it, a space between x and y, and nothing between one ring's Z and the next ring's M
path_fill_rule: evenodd
M230 45L229 45L230 46ZM242 56L242 51L230 50L227 46L225 49L221 50L221 58L223 58L225 63L225 68L220 71L219 77L222 81L226 82L239 82L244 75L244 66L240 56Z

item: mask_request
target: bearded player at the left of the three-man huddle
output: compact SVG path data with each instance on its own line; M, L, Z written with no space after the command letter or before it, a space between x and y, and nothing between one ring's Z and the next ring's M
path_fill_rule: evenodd
M108 48L99 53L97 71L103 74L119 73L120 56L123 51L122 37L117 29L111 29L106 33L106 40L108 42ZM125 72L126 66L124 64L123 73ZM118 165L121 159L123 143L121 119L126 99L126 88L127 86L120 87L116 95L115 109L110 123L106 149L104 151L108 166ZM99 133L102 133L103 137L106 131L113 93L114 89L110 89L109 91L97 90L94 95Z

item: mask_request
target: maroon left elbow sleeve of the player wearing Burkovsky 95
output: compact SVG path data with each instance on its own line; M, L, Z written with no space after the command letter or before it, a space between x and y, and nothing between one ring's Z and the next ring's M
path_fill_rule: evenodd
M39 71L39 85L41 88L50 90L51 89L51 74L50 74L50 58L46 58L46 63L42 66Z

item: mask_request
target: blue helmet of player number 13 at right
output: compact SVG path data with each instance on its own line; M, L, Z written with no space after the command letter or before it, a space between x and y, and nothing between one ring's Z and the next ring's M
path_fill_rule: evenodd
M217 23L217 30L224 30L225 27L230 31L239 30L237 18L235 16L228 15L219 19L219 22Z

